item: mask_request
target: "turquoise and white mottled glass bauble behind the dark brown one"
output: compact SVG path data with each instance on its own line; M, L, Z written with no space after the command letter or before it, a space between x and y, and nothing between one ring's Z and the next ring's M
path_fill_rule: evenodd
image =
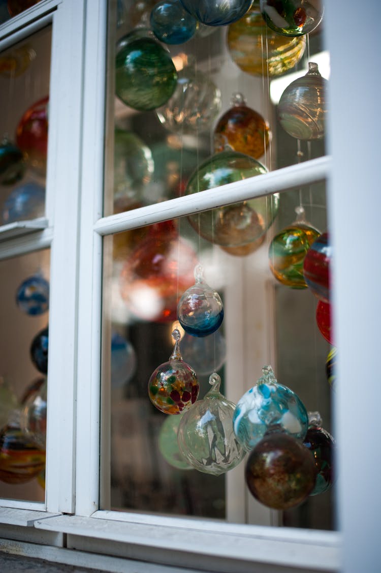
M308 415L301 399L287 386L279 384L271 366L237 403L234 433L249 452L264 437L270 426L303 439L308 428Z

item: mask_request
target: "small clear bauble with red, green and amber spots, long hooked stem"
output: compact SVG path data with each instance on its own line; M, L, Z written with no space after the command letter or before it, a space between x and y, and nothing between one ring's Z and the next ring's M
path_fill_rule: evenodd
M197 400L200 390L197 374L183 361L180 352L180 332L172 333L175 347L168 362L160 364L148 382L152 404L164 414L180 414Z

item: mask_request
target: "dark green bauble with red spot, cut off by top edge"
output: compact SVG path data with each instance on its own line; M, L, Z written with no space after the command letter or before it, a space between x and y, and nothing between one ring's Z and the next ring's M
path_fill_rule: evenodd
M324 8L320 0L260 0L266 24L283 36L301 36L319 26Z

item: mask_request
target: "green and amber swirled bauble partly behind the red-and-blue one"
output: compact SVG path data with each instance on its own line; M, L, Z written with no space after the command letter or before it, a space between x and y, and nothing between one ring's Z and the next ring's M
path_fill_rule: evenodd
M298 217L273 238L269 247L269 266L274 277L291 288L307 288L303 262L308 249L320 236L320 231L304 220L304 209L298 207Z

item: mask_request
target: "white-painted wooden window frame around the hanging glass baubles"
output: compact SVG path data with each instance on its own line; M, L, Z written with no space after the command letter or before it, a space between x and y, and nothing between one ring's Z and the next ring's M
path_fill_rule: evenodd
M48 227L0 246L2 259L50 246L52 289L46 501L0 500L0 549L107 571L147 571L142 561L157 573L378 570L381 209L375 134L381 116L372 54L379 52L381 6L370 0L363 10L366 40L359 48L352 33L359 25L358 2L335 0L325 7L332 159L205 191L197 201L182 197L105 218L107 1L43 0L1 27L0 50L52 22ZM328 180L340 348L334 397L339 532L99 511L102 237L322 179ZM359 272L360 261L367 273ZM363 384L366 400L358 394ZM171 547L163 539L172 540Z

